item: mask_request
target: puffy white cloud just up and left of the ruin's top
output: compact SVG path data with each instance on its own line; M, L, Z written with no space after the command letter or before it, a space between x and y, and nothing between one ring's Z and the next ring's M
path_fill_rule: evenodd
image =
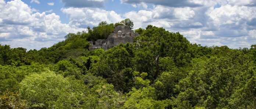
M72 27L85 28L87 26L97 26L102 21L116 23L123 20L114 11L106 11L99 8L62 8L61 11L67 14L70 19L69 25Z

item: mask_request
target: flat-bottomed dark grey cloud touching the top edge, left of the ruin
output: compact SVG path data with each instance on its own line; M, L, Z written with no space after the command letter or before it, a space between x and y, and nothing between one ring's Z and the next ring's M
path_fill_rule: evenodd
M76 7L76 8L82 8L82 7L96 7L96 8L102 8L104 7L104 3L107 2L107 0L61 0L62 3L64 3L65 7Z

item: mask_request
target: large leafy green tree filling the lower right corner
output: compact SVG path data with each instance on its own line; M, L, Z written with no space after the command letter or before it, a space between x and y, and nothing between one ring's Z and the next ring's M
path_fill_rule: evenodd
M173 98L176 105L186 103L192 107L253 108L255 65L250 59L240 50L231 50L225 56L211 57L203 63L203 68L198 63L176 85L174 91L179 92Z

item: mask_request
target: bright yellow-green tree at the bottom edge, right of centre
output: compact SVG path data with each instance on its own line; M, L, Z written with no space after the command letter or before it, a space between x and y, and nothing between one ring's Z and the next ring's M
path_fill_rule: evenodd
M142 72L139 74L139 72L135 71L133 74L135 76L135 83L139 85L139 89L133 87L132 90L126 94L127 100L125 101L123 108L163 109L171 105L171 101L168 99L162 101L156 100L155 89L149 86L149 80L143 79L147 76L147 73Z

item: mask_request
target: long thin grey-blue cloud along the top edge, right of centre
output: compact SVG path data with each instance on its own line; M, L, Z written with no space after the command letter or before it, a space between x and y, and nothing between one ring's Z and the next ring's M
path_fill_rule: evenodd
M189 0L121 0L121 3L126 4L140 4L148 3L154 5L163 5L168 7L199 7L200 4L191 2Z

